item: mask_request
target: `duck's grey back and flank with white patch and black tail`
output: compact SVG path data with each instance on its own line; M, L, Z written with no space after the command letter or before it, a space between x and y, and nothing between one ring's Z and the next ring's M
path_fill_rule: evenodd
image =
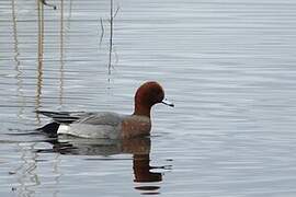
M49 136L71 135L82 138L119 138L121 123L126 115L116 113L84 113L84 112L49 112L36 113L53 118L54 123L47 124L37 130Z

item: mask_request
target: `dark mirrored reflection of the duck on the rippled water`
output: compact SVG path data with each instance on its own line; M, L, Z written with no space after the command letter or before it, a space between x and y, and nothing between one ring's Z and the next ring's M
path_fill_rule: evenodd
M70 136L58 136L58 138L48 138L47 142L53 144L53 149L42 149L37 152L58 152L60 154L77 155L113 155L128 153L133 154L133 171L135 183L156 183L162 181L162 173L151 172L156 169L166 169L166 166L150 165L149 137L140 137L124 140L110 139L83 139ZM144 194L158 194L159 186L135 186L135 189Z

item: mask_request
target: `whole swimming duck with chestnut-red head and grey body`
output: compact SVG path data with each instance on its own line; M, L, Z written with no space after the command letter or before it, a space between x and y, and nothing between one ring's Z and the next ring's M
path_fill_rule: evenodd
M135 93L134 103L134 113L130 115L113 112L35 111L37 114L52 118L52 123L37 130L57 136L69 135L98 139L129 139L149 136L152 106L160 103L174 106L164 99L163 88L156 81L141 84Z

